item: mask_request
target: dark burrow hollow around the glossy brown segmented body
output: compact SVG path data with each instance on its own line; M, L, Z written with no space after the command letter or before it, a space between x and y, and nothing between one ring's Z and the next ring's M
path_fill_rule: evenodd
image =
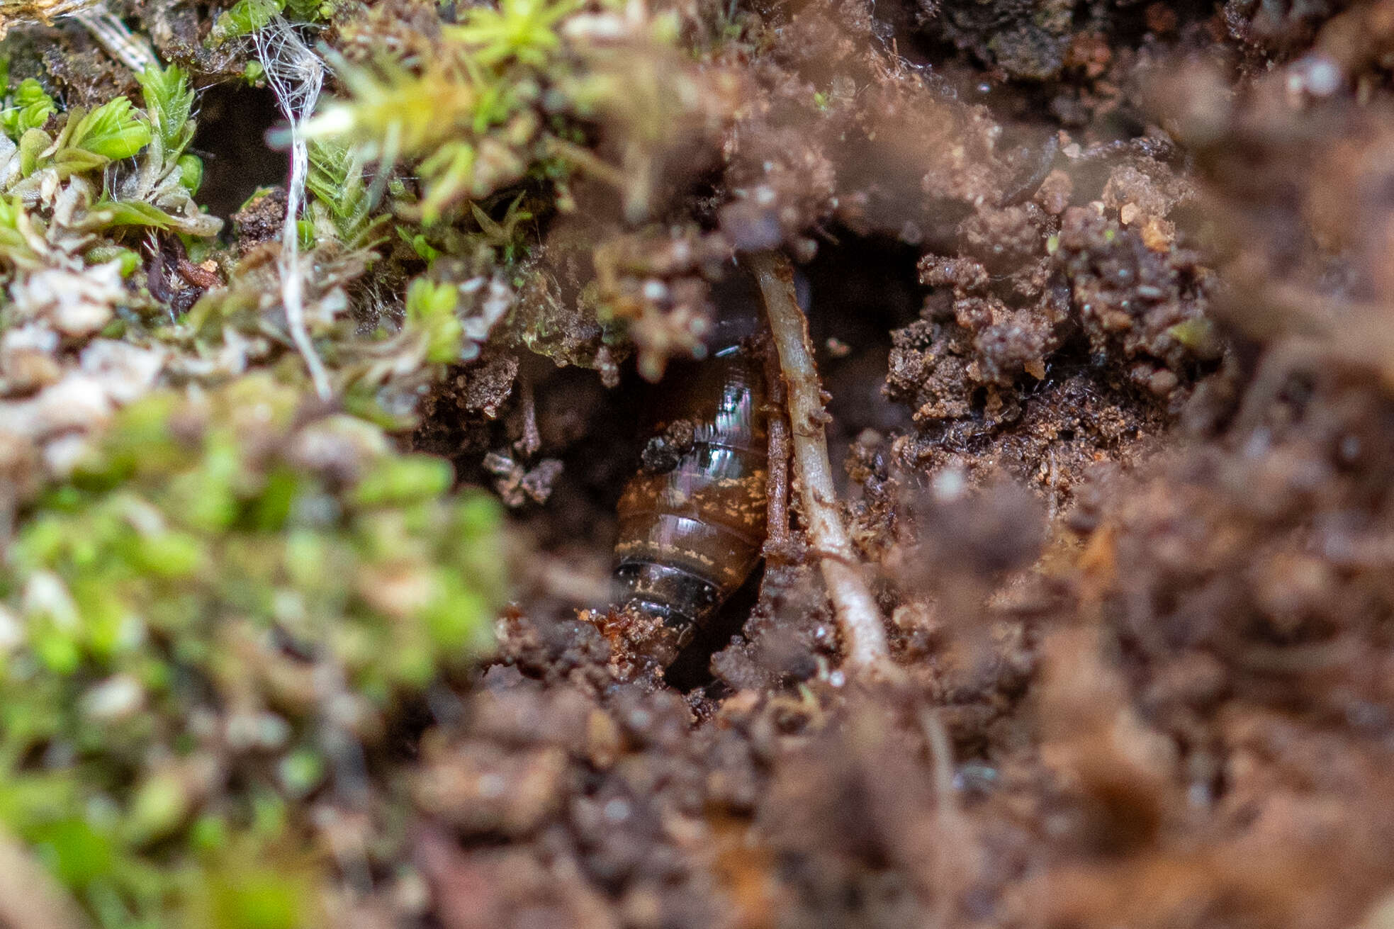
M916 319L923 305L926 289L919 283L917 259L919 250L912 246L894 239L860 239L839 229L821 244L811 262L799 268L818 371L832 396L828 451L834 473L843 483L848 446L859 434L870 428L889 435L912 428L909 410L888 400L881 388L891 332ZM718 300L754 300L756 296L753 286L739 282L718 287ZM683 368L682 363L675 363L669 378L682 378ZM647 384L633 363L626 365L613 391L604 389L592 371L558 370L541 358L524 358L523 370L531 381L544 442L533 463L553 456L562 460L563 470L546 504L527 504L514 511L514 518L552 557L576 562L588 554L592 564L608 561L615 543L615 505L638 467L647 438L644 423L650 410L664 403L673 381ZM517 406L514 393L510 407L516 410ZM498 448L506 449L512 438L506 435L510 416L516 413L505 411L499 417L492 439ZM467 462L460 460L457 466L467 480L489 483ZM841 490L849 492L846 487ZM711 654L725 649L742 630L756 604L758 584L757 569L669 670L668 679L675 688L687 692L714 683ZM528 607L524 604L524 610Z

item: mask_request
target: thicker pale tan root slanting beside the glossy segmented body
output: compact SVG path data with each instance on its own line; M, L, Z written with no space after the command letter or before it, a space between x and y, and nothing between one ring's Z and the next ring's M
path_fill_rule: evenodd
M888 660L881 610L867 589L852 541L838 513L838 492L832 485L828 441L822 424L818 371L813 364L809 321L799 308L789 259L772 251L747 258L760 283L769 329L779 350L779 367L789 391L789 423L793 430L793 467L802 484L803 516L809 537L821 557L822 580L846 643L846 663L868 668Z

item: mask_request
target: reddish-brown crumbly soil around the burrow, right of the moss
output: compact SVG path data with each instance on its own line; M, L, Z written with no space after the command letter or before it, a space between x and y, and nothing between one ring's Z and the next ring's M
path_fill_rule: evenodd
M531 555L420 742L429 918L1387 923L1388 3L757 7L719 165L668 166L686 232L609 283L673 322L722 248L799 258L896 672L839 670L797 538L645 665L606 573L664 382L584 319L599 374L487 352L417 445Z

